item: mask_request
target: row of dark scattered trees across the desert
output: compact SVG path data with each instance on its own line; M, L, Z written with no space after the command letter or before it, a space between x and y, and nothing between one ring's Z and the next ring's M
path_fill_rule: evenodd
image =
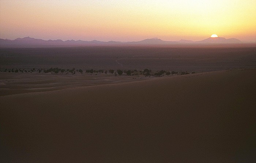
M25 70L25 69L23 69L23 70L21 70L21 69L16 69L16 70L14 70L14 69L5 69L4 70L4 72L12 72L12 73L18 73L18 72L21 72L21 73L23 73L23 72L25 72L25 73L32 73L32 72L38 72L38 73L66 73L66 74L68 74L68 73L71 73L71 74L75 74L75 73L83 73L83 70L82 69L75 69L75 68L73 68L73 69L60 69L60 68L58 68L58 67L56 67L56 68L50 68L50 69L37 69L37 70L35 70L35 68L33 68L33 69L31 69L31 70ZM170 71L165 71L165 70L161 70L161 71L157 71L157 72L155 72L155 73L153 73L153 71L152 70L150 70L150 69L144 69L143 71L142 70L120 70L120 69L118 69L118 70L113 70L113 69L110 69L110 70L102 70L102 69L99 69L99 70L94 70L94 69L88 69L88 70L86 70L85 71L85 73L91 73L91 74L93 74L93 73L105 73L105 74L108 74L108 73L110 73L110 74L114 74L114 75L122 75L122 74L126 74L126 75L145 75L146 77L147 76L161 76L161 75L170 75L170 74L172 74L172 75L174 75L174 74L176 74L176 75L185 75L185 74L189 74L187 71L185 72L185 71L181 71L181 72L176 72L176 71L172 71L172 72L170 72ZM195 73L195 72L192 72L192 74L193 73Z

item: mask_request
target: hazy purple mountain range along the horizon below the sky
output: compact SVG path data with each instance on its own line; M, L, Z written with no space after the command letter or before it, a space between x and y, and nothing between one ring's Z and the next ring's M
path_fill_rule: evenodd
M164 41L158 38L145 39L137 42L120 41L83 41L83 40L42 40L30 37L17 38L15 40L0 39L0 48L36 48L36 47L83 47L83 46L168 46L176 44L239 44L240 40L235 38L225 39L222 37L208 38L202 41L183 40Z

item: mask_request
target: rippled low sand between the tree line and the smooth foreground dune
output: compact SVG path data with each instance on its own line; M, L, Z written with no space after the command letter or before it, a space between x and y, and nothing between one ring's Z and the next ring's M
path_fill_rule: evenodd
M154 78L154 77L151 77ZM46 92L52 90L116 84L151 79L144 75L114 76L114 74L50 74L0 72L0 96Z

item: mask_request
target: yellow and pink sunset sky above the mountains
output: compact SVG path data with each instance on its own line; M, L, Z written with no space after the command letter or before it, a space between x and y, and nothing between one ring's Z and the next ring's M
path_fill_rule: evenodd
M256 42L256 0L0 0L0 38Z

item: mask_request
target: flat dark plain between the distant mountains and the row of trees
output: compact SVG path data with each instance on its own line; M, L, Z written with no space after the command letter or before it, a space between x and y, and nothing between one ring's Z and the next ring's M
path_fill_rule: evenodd
M256 68L256 46L67 47L0 49L4 69L94 69L209 72Z

